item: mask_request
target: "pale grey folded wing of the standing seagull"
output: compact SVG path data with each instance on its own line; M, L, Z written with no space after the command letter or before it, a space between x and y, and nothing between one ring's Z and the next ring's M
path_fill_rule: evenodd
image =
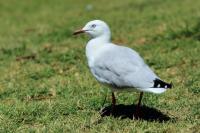
M100 82L117 87L149 88L158 78L135 51L121 46L105 51L91 71Z

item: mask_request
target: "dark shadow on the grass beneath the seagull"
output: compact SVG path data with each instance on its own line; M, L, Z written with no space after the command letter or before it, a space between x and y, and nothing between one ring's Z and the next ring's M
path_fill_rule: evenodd
M113 116L115 118L129 118L133 119L136 114L136 105L116 105L114 110L112 110L112 106L107 106L101 109L100 114L102 117L105 116ZM145 105L140 107L140 112L134 119L142 119L146 121L158 121L158 122L166 122L172 120L168 115L163 114L161 111L147 107Z

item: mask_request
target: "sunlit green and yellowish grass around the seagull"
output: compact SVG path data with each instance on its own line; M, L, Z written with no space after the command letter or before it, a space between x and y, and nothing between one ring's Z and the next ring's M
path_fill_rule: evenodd
M1 0L0 132L199 132L199 7L198 0ZM164 94L144 95L155 119L100 116L110 91L87 68L88 38L71 35L93 19L173 82ZM128 108L138 93L117 98Z

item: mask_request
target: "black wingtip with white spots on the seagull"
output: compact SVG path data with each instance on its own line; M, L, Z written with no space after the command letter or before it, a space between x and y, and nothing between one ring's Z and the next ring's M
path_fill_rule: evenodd
M165 89L171 89L173 87L172 82L171 83L166 83L160 79L155 79L154 80L154 85L153 88L165 88Z

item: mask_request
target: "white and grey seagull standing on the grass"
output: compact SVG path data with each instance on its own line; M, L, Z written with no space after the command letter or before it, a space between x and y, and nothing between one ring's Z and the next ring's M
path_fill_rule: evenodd
M104 21L90 21L73 34L80 33L91 38L86 45L88 66L96 80L111 89L112 110L115 91L139 91L138 112L144 92L160 94L172 88L172 83L161 80L136 51L112 43L110 28Z

